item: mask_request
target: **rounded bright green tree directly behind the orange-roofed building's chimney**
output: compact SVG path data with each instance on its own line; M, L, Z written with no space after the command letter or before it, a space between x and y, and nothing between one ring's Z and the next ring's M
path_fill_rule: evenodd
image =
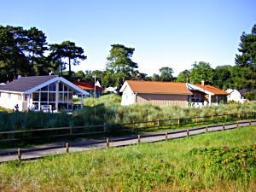
M190 81L194 84L200 84L204 80L208 84L212 84L213 69L208 62L199 61L192 65L190 73Z

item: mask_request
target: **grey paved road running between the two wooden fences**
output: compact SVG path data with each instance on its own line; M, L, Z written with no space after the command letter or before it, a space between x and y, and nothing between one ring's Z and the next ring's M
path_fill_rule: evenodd
M249 122L241 122L238 126L248 126ZM256 125L256 121L252 121L251 125ZM236 128L236 124L227 125L214 125L201 128L190 128L189 136L197 135L205 132L212 131L224 131ZM168 131L167 139L175 139L188 137L187 130ZM140 143L152 143L166 140L166 132L148 133L140 136ZM110 147L121 147L138 143L137 135L125 136L125 137L111 137L109 138ZM69 143L69 153L90 150L91 148L107 148L106 138L98 140L84 140L73 141ZM65 142L49 143L32 148L21 149L21 160L34 160L48 156L51 154L65 154ZM6 162L9 160L18 160L17 148L9 150L0 150L0 162Z

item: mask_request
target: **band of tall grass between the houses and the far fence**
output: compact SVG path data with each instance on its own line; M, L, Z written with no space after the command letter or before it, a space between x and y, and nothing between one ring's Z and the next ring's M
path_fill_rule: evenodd
M121 106L121 97L116 95L86 98L86 105L73 114L61 113L7 113L0 112L0 131L15 131L23 129L102 125L131 123L139 121L155 121L157 119L195 118L223 115L226 113L248 113L256 111L256 103L220 104L207 108L182 108L178 106L154 106L150 104L135 104Z

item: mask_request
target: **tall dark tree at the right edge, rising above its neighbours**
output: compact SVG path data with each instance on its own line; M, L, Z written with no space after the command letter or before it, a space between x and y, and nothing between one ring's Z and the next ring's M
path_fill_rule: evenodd
M241 55L236 55L236 64L241 66L256 65L256 24L253 26L252 32L246 34L242 32L241 43L238 50Z

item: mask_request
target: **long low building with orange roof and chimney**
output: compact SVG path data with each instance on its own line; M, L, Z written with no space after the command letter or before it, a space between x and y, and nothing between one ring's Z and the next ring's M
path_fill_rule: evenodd
M127 80L120 92L121 105L150 103L154 105L178 105L202 107L227 102L228 93L202 81L201 84Z

